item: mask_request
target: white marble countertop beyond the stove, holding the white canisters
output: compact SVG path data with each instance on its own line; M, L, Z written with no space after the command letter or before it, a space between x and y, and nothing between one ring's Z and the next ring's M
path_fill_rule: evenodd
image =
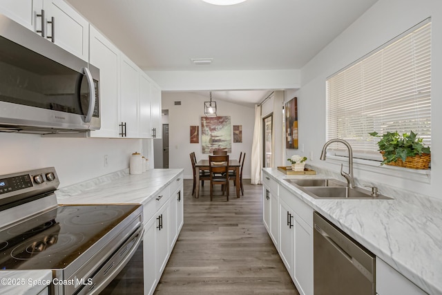
M150 169L131 175L119 171L55 191L59 204L146 204L173 182L183 169Z

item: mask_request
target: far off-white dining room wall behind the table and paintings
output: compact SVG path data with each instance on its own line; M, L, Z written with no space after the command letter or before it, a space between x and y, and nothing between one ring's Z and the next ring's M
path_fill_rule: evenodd
M201 117L204 116L204 102L209 97L195 93L162 93L162 108L169 110L169 168L183 168L184 178L192 178L189 153L195 152L197 160L206 159L201 149ZM180 106L174 102L180 101ZM234 143L232 137L232 158L238 159L240 152L246 153L243 178L250 178L250 155L253 137L255 110L253 107L216 100L217 115L230 116L231 124L242 125L242 143ZM190 143L190 126L200 126L200 143ZM233 129L233 127L232 127Z

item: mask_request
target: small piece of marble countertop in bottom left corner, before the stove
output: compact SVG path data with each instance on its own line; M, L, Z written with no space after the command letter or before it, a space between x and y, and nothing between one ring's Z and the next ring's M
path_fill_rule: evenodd
M0 293L3 295L39 294L51 282L50 269L0 271Z

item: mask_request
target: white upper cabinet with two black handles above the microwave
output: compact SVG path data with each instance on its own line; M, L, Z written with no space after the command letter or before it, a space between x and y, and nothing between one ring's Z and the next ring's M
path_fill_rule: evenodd
M1 0L0 12L88 61L89 23L63 0Z

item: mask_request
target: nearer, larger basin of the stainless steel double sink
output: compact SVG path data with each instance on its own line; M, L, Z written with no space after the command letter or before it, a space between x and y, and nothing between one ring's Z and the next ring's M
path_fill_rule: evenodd
M383 195L372 196L362 189L348 187L303 187L307 193L317 199L392 199Z

